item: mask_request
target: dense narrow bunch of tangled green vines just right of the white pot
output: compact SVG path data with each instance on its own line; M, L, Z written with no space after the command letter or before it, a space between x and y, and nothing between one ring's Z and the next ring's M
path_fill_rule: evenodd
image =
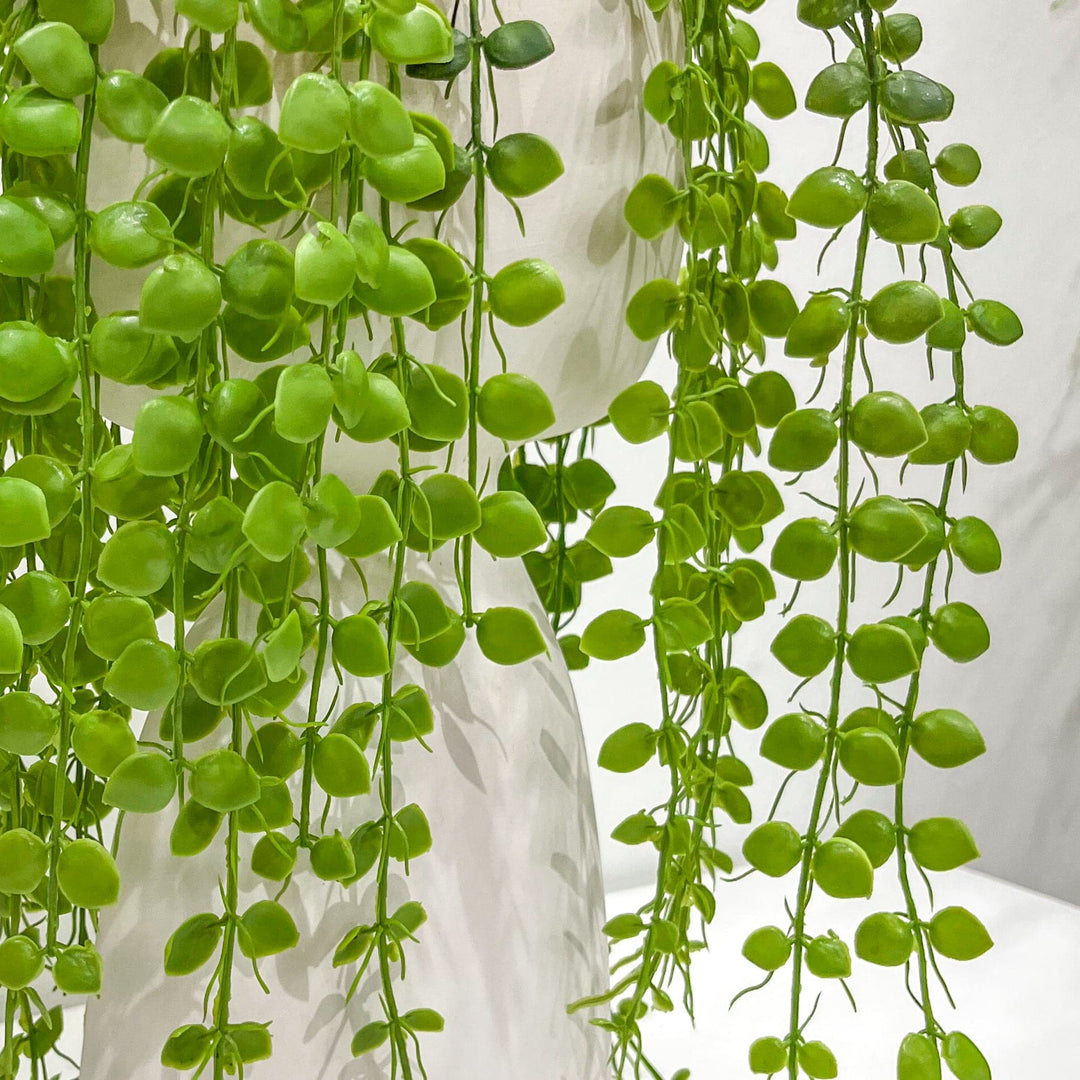
M631 443L666 435L667 469L656 499L659 519L644 509L606 507L584 537L605 558L654 543L651 611L645 618L608 611L580 642L564 639L571 660L579 653L617 660L637 652L648 629L660 684L659 724L619 728L599 755L600 766L617 772L658 759L670 780L664 804L633 814L613 833L620 842L654 846L656 892L637 912L609 920L605 931L619 943L613 985L575 1005L618 999L611 1018L594 1023L613 1036L620 1077L660 1076L640 1021L650 1008L674 1008L667 987L676 977L693 1015L691 955L716 912L717 872L732 868L716 846L718 818L744 824L751 816L743 787L753 777L731 724L757 728L768 713L761 687L732 662L732 647L742 623L765 613L775 588L768 568L733 545L754 551L761 526L782 510L774 484L746 468L745 455L759 451L759 427L774 426L794 403L782 376L751 374L765 359L766 338L782 337L794 314L791 292L765 274L777 266L777 242L794 230L783 192L758 180L768 146L746 108L753 102L780 119L795 99L780 68L751 66L759 42L738 17L743 6L685 2L657 12L681 21L686 52L680 64L664 60L652 71L645 108L678 139L685 187L647 176L627 198L625 216L644 240L678 226L687 255L678 282L657 280L633 297L627 322L643 340L671 332L678 376L671 394L650 381L631 387L612 402L609 419ZM564 447L558 451L556 469ZM565 562L559 525L549 565Z

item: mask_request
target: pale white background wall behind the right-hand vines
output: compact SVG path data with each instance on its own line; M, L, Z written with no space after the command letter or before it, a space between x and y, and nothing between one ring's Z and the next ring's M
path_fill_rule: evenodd
M788 71L801 98L829 57L820 33L795 24L793 8L774 0L752 18L761 35L762 58ZM961 269L976 296L1010 303L1027 330L1011 349L975 340L967 350L969 402L1005 408L1022 433L1017 460L994 469L975 465L967 492L954 501L958 513L989 521L1004 550L997 575L974 578L958 568L951 595L983 612L994 644L963 667L930 650L923 677L924 707L968 712L983 728L989 750L978 761L949 772L913 764L912 820L930 812L961 815L983 850L980 868L1080 902L1080 860L1075 858L1080 847L1080 6L1071 2L1051 10L1051 0L912 0L901 9L918 14L926 30L926 43L909 66L956 92L953 119L929 130L933 145L970 141L983 156L983 175L973 187L943 188L946 212L986 202L1005 220L988 248L961 253ZM780 123L762 121L762 126L773 143L767 178L788 191L832 157L833 121L800 111ZM846 161L859 168L861 158L861 140L852 133ZM780 275L800 297L850 276L850 245L843 244L826 257L822 278L815 276L815 231L802 228L782 255ZM901 276L894 258L878 246L872 276L876 285ZM807 392L810 373L804 362L781 353L774 349L771 363ZM917 347L874 345L870 362L878 389L900 390L917 405L950 392L944 364L931 388ZM835 360L832 366L837 367ZM671 362L658 355L648 377L667 382L672 376ZM822 403L831 407L835 400L835 389L829 389ZM634 448L613 435L602 440L600 456L623 485L619 501L651 505L663 475L663 454L662 441ZM820 490L827 490L828 472L822 470L814 480ZM936 487L939 471L923 472L930 486L920 488L913 470L904 494ZM893 470L882 471L882 482L887 490L897 490ZM810 505L791 496L788 513L801 516ZM773 525L769 535L777 531ZM613 578L590 586L589 612L624 606L646 613L649 562L647 553L626 561ZM866 606L859 609L860 621L875 617L875 604L891 588L888 575L865 568L861 564L860 595ZM798 610L827 616L835 610L833 588L804 590ZM914 594L905 596L915 606ZM740 633L735 660L761 679L774 715L784 711L794 686L768 654L778 610L774 605L765 620ZM644 651L615 664L594 663L577 686L594 759L608 731L658 715L651 663ZM821 690L816 692L820 701ZM741 738L741 745L753 748L757 734ZM768 806L777 774L758 771L757 802ZM595 789L606 838L625 814L659 801L663 783L658 768L631 778L597 770ZM785 802L795 821L802 815L798 804L804 797L795 793ZM728 850L738 851L737 831L725 833ZM609 887L648 879L648 850L604 842Z

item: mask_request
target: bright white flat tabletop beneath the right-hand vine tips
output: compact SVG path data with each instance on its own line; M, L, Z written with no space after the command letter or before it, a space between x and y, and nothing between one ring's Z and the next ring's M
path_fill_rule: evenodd
M854 929L873 912L900 903L891 864L877 872L873 901L837 901L814 895L808 930L835 930L851 946ZM1080 910L1018 886L971 869L934 877L940 906L961 904L986 924L997 944L970 963L941 960L956 998L954 1012L941 993L934 1011L946 1031L963 1031L986 1055L998 1080L1071 1080L1077 1075L1080 1026ZM719 910L710 932L708 954L694 960L698 1026L679 1011L653 1014L643 1024L647 1052L665 1076L689 1067L694 1080L751 1076L746 1053L754 1039L781 1038L787 1030L791 966L764 989L740 999L741 989L764 972L741 956L746 935L767 924L785 926L783 900L793 893L795 875L775 881L754 875L718 887ZM918 887L922 892L922 887ZM647 890L631 889L608 897L613 915L632 910ZM903 968L878 968L854 956L849 986L858 1015L835 980L807 974L804 1020L822 991L821 1005L807 1028L808 1039L823 1040L836 1054L841 1077L895 1080L900 1040L922 1026L921 1013L904 989ZM936 986L935 986L936 989ZM947 1070L943 1069L948 1076Z

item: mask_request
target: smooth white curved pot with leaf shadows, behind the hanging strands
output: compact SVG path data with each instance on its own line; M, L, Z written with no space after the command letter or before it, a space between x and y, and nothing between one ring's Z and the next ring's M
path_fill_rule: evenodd
M489 4L484 6L490 23ZM537 15L525 0L502 0L501 8L508 19ZM173 40L171 5L131 0L129 9L104 50L107 69L141 70ZM500 132L544 135L559 148L566 175L523 205L525 239L509 206L492 198L487 249L491 269L535 254L551 261L564 281L567 302L554 316L535 328L507 328L501 337L511 368L548 390L559 430L570 430L602 416L611 397L644 368L651 350L625 329L623 310L639 285L673 274L678 261L674 240L646 244L622 218L625 194L639 176L674 176L678 167L674 148L643 119L638 106L646 76L671 55L673 43L663 40L666 27L658 27L644 0L577 0L545 9L540 17L556 53L534 69L498 76ZM275 59L279 97L303 59ZM410 86L409 93L415 107L462 130L460 99L444 103L440 87L429 85ZM273 112L270 107L266 116ZM145 172L138 148L99 131L92 205L130 194ZM470 206L467 194L445 233L467 253ZM426 227L430 230L430 222ZM228 227L220 249L243 239L243 230ZM144 273L96 267L98 310L136 307ZM363 324L352 329L362 355L376 355L380 342L365 343ZM438 335L418 326L409 334L409 347L421 360L461 370L456 326ZM490 348L485 353L488 370L496 369L492 353ZM242 363L233 365L234 372L244 369ZM109 387L104 409L130 426L144 396L137 388ZM483 453L497 468L504 451L492 441ZM359 491L388 461L381 448L342 440L325 468ZM386 586L384 561L365 569L379 594L380 585ZM333 570L334 613L357 610L365 595L355 575L338 563ZM408 575L433 581L448 599L455 596L445 554L436 553L431 563L411 559ZM530 607L544 624L519 563L497 564L481 553L475 578L481 608ZM192 646L217 633L214 610L193 627ZM251 622L254 612L244 617ZM407 662L396 678L423 686L436 715L432 754L415 744L397 747L395 754L395 802L416 801L424 808L434 847L410 867L407 881L394 881L391 896L392 906L406 896L419 900L429 914L420 944L409 949L408 978L399 990L403 1008L424 1005L446 1016L446 1031L423 1042L429 1075L432 1080L600 1080L607 1056L603 1034L565 1011L571 999L606 985L607 957L599 932L604 896L588 760L558 648L552 640L550 657L501 669L469 643L448 669L423 670ZM333 675L324 680L323 700L337 690L332 680ZM376 686L350 679L338 705L377 693ZM300 719L303 712L301 702L292 718ZM157 734L156 717L147 730ZM224 733L193 746L192 756L218 738ZM370 799L336 801L326 828L348 833L376 813ZM175 1076L159 1064L161 1043L175 1027L200 1021L206 972L170 980L162 973L161 957L170 933L185 918L219 908L224 851L215 843L193 860L171 858L171 824L168 813L129 816L124 823L124 888L120 903L103 913L98 944L107 978L103 996L87 1011L83 1080ZM251 842L244 838L245 854ZM242 907L273 893L246 873L241 889ZM269 997L245 971L246 962L238 961L232 1018L272 1021L274 1055L254 1067L256 1077L376 1080L389 1075L379 1054L353 1059L349 1051L352 1032L381 1017L377 980L362 985L347 1005L351 972L330 966L341 935L370 920L373 897L370 876L342 890L319 881L305 863L298 866L283 903L297 918L301 943L260 966Z

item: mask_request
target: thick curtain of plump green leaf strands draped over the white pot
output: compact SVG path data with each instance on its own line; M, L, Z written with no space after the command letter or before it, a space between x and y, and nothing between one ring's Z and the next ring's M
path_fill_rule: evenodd
M524 199L563 171L537 135L494 139L495 72L553 45L536 22L482 25L477 0L450 15L415 0L177 0L186 32L139 75L102 67L114 14L113 0L0 4L0 1071L24 1058L54 1071L62 1014L36 987L99 991L94 931L122 888L123 816L170 813L173 854L216 850L221 870L220 895L165 948L166 974L202 980L206 1008L175 1017L162 1063L219 1078L269 1057L268 1023L231 1009L237 966L258 976L303 946L280 902L294 874L343 889L369 877L374 909L333 963L354 972L352 993L375 972L383 1015L352 1052L388 1053L389 1075L408 1078L443 1018L400 1003L426 913L420 899L391 909L391 867L431 834L420 807L394 804L394 747L424 747L434 718L395 659L451 663L472 633L495 663L545 649L528 612L474 608L471 569L474 545L519 557L545 537L519 494L484 492L478 441L554 420L501 347L501 374L481 364L485 324L497 343L499 322L530 325L564 299L540 259L488 275L483 228L485 198ZM255 112L275 53L308 69L271 126ZM449 93L459 79L467 130L403 104L409 80ZM147 175L92 211L103 129L141 146ZM457 252L438 228L470 184L473 242ZM222 233L252 239L227 248ZM141 271L137 310L97 310L103 264ZM416 359L417 335L456 323L460 375ZM130 438L103 417L109 382L146 388ZM390 441L397 468L353 491L329 468L338 440L359 455ZM446 453L459 440L465 476ZM455 598L410 580L447 544ZM380 553L389 584L369 591L361 561ZM367 599L338 617L342 564ZM376 700L338 708L327 686L348 676L377 680ZM133 713L158 710L160 734L137 740ZM373 784L374 819L323 832L332 799ZM241 908L244 864L281 882L274 899Z

